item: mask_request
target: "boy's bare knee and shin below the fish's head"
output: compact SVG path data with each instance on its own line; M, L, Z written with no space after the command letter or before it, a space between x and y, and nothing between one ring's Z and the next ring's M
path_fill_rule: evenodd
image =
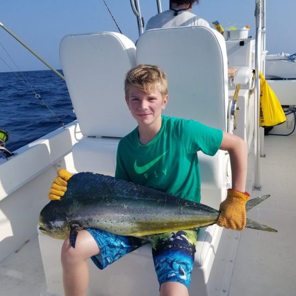
M88 287L87 259L100 253L100 249L87 230L78 232L75 249L69 239L64 242L61 261L65 296L85 296Z

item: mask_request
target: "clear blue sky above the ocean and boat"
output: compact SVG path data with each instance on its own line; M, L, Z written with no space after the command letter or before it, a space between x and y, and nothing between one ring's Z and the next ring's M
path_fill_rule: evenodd
M122 33L136 41L138 27L129 0L105 0ZM163 10L168 0L162 0ZM0 0L0 22L57 69L59 42L68 34L118 32L103 0ZM145 22L157 13L156 0L140 0ZM255 37L255 0L200 0L192 12L209 23L219 20L224 28L250 25ZM269 53L295 53L296 0L266 0L266 47ZM0 28L0 42L20 70L47 68ZM0 58L15 66L0 45ZM0 72L9 72L0 60Z

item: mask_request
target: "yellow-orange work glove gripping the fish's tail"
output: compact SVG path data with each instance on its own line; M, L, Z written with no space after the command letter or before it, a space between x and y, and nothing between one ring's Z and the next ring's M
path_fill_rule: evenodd
M227 197L220 204L221 214L217 220L219 226L243 230L246 226L246 202L250 194L234 189L227 190Z

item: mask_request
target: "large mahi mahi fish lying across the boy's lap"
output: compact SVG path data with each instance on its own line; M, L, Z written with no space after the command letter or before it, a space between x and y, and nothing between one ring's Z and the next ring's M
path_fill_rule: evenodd
M246 211L269 196L249 200ZM219 211L197 202L110 176L83 172L69 179L60 200L50 201L41 210L39 230L54 238L70 237L75 247L78 231L85 228L148 239L154 234L215 224L219 215ZM250 219L246 227L277 232Z

